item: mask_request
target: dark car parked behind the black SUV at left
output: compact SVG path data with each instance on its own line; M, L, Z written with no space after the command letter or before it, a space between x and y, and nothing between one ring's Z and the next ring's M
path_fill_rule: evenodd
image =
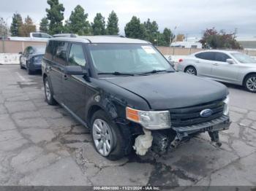
M29 46L25 48L24 52L20 52L20 54L20 69L26 69L28 74L33 74L34 71L41 71L45 46Z

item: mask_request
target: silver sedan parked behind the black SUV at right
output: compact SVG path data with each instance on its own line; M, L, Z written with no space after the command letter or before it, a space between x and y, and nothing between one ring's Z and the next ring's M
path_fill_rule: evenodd
M178 71L220 82L243 85L256 93L256 60L241 52L206 50L180 59Z

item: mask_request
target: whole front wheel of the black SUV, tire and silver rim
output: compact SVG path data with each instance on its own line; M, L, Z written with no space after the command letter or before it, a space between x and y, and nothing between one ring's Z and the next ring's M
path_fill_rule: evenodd
M128 155L132 149L129 132L124 133L108 115L99 110L91 118L91 138L94 148L109 160L118 160Z

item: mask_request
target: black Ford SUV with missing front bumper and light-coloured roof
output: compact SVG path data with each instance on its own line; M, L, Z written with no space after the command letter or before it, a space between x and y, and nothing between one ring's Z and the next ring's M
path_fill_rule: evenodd
M166 152L208 131L218 146L230 126L225 85L177 72L149 42L118 36L50 39L42 61L48 104L91 129L110 160Z

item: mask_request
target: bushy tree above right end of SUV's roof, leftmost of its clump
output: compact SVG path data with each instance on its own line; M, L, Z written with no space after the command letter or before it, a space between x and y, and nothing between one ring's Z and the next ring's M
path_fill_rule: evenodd
M133 39L145 39L146 38L146 28L140 23L138 17L133 16L132 20L127 23L124 27L125 36Z

